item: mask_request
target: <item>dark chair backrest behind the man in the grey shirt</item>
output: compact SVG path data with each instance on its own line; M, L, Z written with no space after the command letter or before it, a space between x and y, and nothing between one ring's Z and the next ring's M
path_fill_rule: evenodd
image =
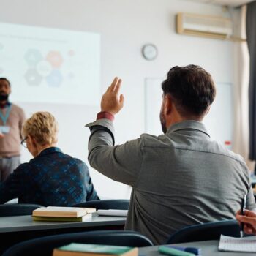
M239 237L240 229L238 222L232 219L184 227L170 236L166 244L217 240L221 234Z

